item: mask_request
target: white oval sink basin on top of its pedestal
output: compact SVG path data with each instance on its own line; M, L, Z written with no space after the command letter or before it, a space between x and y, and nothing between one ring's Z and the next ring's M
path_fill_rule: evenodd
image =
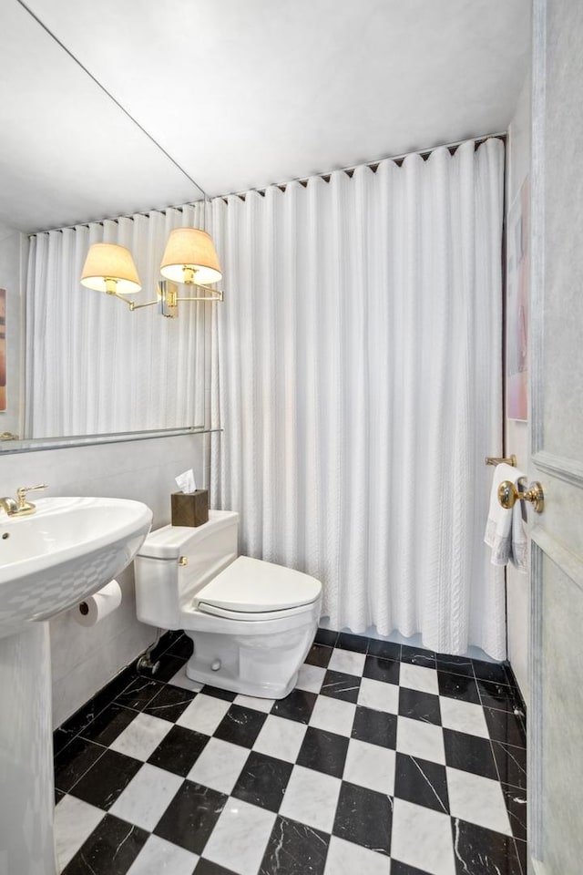
M0 638L92 595L134 558L152 512L128 499L36 500L0 516Z

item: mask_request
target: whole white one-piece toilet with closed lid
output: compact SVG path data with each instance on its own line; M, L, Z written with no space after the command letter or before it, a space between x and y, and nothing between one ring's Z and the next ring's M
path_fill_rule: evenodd
M197 528L151 532L135 558L138 620L189 635L191 680L281 699L312 646L322 584L238 556L238 535L232 510L210 510Z

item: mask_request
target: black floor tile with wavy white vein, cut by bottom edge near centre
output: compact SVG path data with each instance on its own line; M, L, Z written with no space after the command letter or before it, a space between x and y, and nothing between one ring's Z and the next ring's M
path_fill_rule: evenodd
M278 817L258 875L322 875L329 843L319 829Z

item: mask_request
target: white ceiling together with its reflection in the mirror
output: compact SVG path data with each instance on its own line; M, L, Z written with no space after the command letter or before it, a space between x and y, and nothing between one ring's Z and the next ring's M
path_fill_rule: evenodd
M27 232L506 130L529 57L530 0L0 6L0 222Z

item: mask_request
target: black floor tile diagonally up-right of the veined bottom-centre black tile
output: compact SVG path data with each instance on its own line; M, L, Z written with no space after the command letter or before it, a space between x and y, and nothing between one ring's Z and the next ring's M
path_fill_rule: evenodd
M332 833L378 853L391 853L392 799L343 781Z

